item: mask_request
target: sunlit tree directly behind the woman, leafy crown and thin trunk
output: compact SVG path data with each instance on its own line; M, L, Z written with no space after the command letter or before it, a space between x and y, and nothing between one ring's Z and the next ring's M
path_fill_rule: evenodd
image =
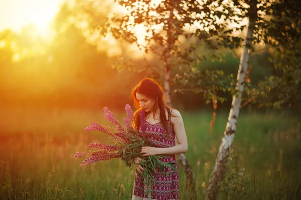
M169 106L172 106L170 97L171 74L175 67L189 69L191 63L206 58L206 55L193 53L196 49L195 42L184 45L185 42L187 43L190 39L201 40L200 44L206 43L208 47L217 49L221 44L224 44L222 40L216 39L220 34L226 33L223 20L226 20L226 16L229 18L234 16L232 7L227 2L220 0L208 0L206 2L197 0L118 0L116 2L122 5L123 13L119 12L107 17L107 22L100 19L101 22L96 26L93 26L96 20L93 17L95 14L91 14L90 17L87 17L92 20L89 23L92 24L92 28L99 30L101 35L106 36L110 33L116 39L122 38L135 44L137 48L144 51L145 56L147 54L158 56L162 66L150 66L149 62L145 62L144 66L139 65L139 67L146 69L148 74L163 74L163 85ZM83 4L84 2L81 1L78 5L85 7L85 9L77 8L76 10L83 10L83 12L95 10L92 3ZM92 7L87 8L88 6ZM93 11L85 13L91 12ZM235 21L235 18L233 17L231 20ZM140 31L135 31L138 27ZM188 30L189 28L193 30ZM139 40L139 34L144 37L142 41ZM216 52L212 51L210 56L216 57ZM122 65L128 66L131 61L130 56L122 57ZM162 72L160 72L161 70ZM216 72L215 75L223 74ZM178 77L181 78L181 76ZM194 188L192 169L188 160L184 154L179 155L179 160L184 167L188 187Z

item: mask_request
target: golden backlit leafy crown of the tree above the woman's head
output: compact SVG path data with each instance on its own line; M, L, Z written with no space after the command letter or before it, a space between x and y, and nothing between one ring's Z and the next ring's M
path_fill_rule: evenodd
M99 31L100 35L106 36L110 33L120 43L126 41L145 52L142 53L144 59L137 66L132 64L134 60L131 56L119 56L114 64L118 69L145 70L148 76L155 75L159 76L156 79L160 79L162 73L158 71L161 70L161 64L165 65L167 71L178 66L190 68L191 63L208 57L218 58L219 53L215 49L221 47L232 49L241 43L241 39L231 33L234 30L244 29L244 26L231 29L228 28L228 22L238 23L243 15L228 1L164 0L157 3L149 0L116 0L115 2L116 6L120 5L126 11L112 12L108 16L99 17L97 11L99 3L76 1L74 10L77 11L74 15L78 20L80 20L78 15L88 16L85 19L90 28ZM218 19L221 18L226 22L219 22ZM146 33L141 33L142 35L137 33L135 31L137 26L145 28ZM190 28L192 26L194 28ZM141 36L145 42L139 41L138 38ZM200 42L201 45L214 50L206 55L196 54L195 50ZM147 54L155 57L157 62L152 63L146 59Z

